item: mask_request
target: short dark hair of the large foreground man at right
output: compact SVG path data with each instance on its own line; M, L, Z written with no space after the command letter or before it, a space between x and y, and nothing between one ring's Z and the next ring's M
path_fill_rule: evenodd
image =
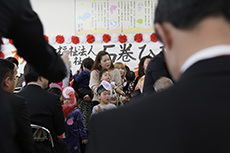
M169 22L178 29L192 29L211 16L230 21L229 6L229 0L159 0L154 23Z

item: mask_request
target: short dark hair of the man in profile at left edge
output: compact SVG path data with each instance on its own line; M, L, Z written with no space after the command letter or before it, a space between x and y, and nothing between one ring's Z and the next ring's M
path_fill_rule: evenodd
M8 60L0 58L0 82L6 78L10 77L12 79L14 75L14 64Z

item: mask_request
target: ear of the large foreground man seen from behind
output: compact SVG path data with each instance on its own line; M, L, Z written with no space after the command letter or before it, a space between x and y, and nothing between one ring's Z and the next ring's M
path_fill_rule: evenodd
M158 35L161 37L161 40L163 41L166 50L170 50L172 48L172 35L168 29L168 26L165 26L164 23L156 23L155 28L157 30Z

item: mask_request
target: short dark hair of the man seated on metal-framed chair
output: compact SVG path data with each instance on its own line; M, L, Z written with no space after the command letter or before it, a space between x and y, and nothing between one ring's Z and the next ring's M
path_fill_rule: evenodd
M24 67L24 78L26 83L38 81L38 77L41 76L34 68L28 63Z

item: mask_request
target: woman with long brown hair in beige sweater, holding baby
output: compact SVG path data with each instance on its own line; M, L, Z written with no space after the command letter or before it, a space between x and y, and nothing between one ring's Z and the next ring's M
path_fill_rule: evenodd
M92 89L94 93L94 97L92 101L95 104L99 103L97 97L97 88L100 85L99 72L103 69L109 70L111 81L116 82L118 88L122 89L121 75L117 69L114 69L109 53L107 53L106 51L100 51L97 54L96 59L94 61L92 72L90 73L90 82L89 82L89 87Z

